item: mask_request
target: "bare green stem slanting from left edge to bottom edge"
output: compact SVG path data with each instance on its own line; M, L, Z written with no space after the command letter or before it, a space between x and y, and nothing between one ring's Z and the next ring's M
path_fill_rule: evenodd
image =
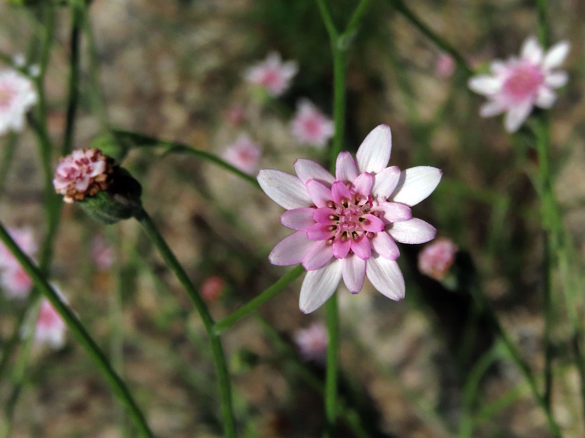
M108 359L106 359L104 353L99 349L97 343L91 338L89 333L85 330L79 319L75 314L67 307L61 300L56 291L47 283L44 279L43 273L40 269L33 264L33 262L23 253L18 245L12 240L8 232L6 232L4 225L0 223L0 240L4 242L6 247L15 256L16 260L25 269L26 273L29 274L33 280L35 287L40 290L44 297L47 298L55 308L57 312L63 318L67 328L73 333L77 341L84 347L88 356L94 361L98 369L104 374L104 377L108 381L112 391L116 394L122 404L128 409L130 418L135 423L140 436L144 438L154 438L153 433L150 431L142 412L136 405L136 402L130 395L128 388L122 379L113 370Z

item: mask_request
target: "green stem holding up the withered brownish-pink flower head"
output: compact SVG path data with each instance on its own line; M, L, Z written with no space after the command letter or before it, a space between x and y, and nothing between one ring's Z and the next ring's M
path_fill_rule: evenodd
M221 338L214 332L214 319L211 317L209 309L207 308L207 304L205 304L201 294L199 294L193 283L191 283L191 280L187 276L183 266L181 266L181 264L178 262L173 251L171 251L156 225L154 225L152 218L150 218L144 209L139 211L139 213L135 215L135 218L142 226L144 232L146 232L153 245L156 246L156 248L159 250L160 255L163 257L164 262L167 264L168 268L173 271L177 279L183 285L187 291L187 294L191 298L191 301L195 305L195 308L197 308L197 311L199 312L199 316L201 317L205 331L209 336L211 352L213 354L214 363L218 374L219 395L221 399L225 437L235 438L236 423L233 416L232 390L229 380L228 366L226 364Z

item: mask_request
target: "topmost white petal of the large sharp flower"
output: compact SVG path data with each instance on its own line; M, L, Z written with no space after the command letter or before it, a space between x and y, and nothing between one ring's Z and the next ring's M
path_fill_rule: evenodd
M362 172L380 172L386 168L392 150L390 127L379 125L366 135L357 150L357 168Z

